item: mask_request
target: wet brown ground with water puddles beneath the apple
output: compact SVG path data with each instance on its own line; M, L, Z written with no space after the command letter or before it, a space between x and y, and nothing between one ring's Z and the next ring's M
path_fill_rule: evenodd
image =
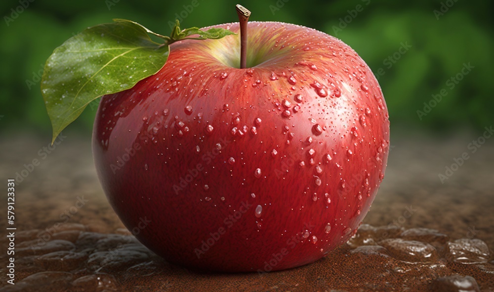
M109 206L89 139L67 135L48 153L48 137L26 137L0 142L5 187L23 164L40 161L16 184L15 285L6 284L8 226L0 221L0 291L494 291L494 141L473 153L476 135L392 140L385 179L355 237L313 264L260 275L165 262ZM463 152L469 158L441 183L438 174L456 169Z

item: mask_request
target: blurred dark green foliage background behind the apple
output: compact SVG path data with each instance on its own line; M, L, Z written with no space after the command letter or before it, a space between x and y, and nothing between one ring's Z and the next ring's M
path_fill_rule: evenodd
M0 2L2 132L30 129L50 135L40 92L42 67L55 47L86 27L126 18L168 35L168 22L176 15L182 18L182 27L237 21L236 2L227 0L196 0L197 7L190 6L192 0L32 1ZM379 78L394 128L481 132L492 125L493 1L267 0L242 4L252 11L251 20L300 24L349 44ZM400 49L404 44L407 50ZM473 69L463 69L464 64ZM435 105L432 95L441 90L446 95ZM424 110L424 102L435 105L430 113ZM419 117L417 110L425 115ZM89 134L95 112L96 107L86 108L69 131Z

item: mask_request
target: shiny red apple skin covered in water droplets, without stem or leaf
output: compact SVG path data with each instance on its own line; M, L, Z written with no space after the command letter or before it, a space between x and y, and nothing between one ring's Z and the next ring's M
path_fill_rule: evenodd
M99 105L93 155L108 200L171 263L313 262L356 232L384 176L388 112L354 50L249 22L247 51L251 68L238 69L239 35L173 43L158 73Z

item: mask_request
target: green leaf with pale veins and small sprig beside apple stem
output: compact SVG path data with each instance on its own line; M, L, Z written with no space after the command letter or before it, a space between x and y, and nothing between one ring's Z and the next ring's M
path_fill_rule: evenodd
M195 34L200 37L194 39L233 34L223 29L180 31L177 20L172 37L166 37L133 21L114 21L71 37L46 61L41 93L53 127L52 142L93 100L130 89L163 68L170 43ZM149 35L163 39L163 43Z

